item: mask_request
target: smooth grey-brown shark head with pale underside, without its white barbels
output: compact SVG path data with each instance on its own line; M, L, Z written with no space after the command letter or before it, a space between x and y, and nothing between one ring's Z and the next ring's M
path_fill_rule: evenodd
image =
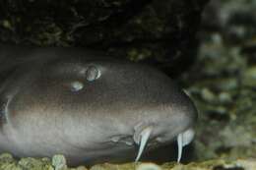
M191 128L197 111L149 66L74 48L0 46L0 151L64 154L70 165L134 160Z

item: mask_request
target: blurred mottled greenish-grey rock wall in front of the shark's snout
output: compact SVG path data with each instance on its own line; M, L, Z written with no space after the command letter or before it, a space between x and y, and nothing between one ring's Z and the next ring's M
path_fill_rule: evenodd
M225 23L225 27L202 32L199 58L182 80L186 80L183 83L200 111L195 152L199 160L256 158L256 43L252 33L255 29L251 29L254 23L243 21L246 24L241 24L233 17L235 14L240 18L246 11L248 18L256 21L255 10L252 10L256 3L250 0L212 2L214 7L218 5L216 13L218 19L224 17L221 23ZM230 22L233 25L229 25ZM233 28L244 30L239 41L234 41L236 36L229 36Z

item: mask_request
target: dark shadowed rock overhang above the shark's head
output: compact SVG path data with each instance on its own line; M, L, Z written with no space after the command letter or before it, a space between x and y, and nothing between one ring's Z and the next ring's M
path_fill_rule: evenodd
M0 39L40 46L83 46L116 57L147 59L173 74L186 69L195 58L196 32L208 1L3 0Z

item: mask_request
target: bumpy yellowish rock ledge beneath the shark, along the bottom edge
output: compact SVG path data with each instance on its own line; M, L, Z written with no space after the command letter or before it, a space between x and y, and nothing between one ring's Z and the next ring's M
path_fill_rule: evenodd
M64 163L62 155L55 155L52 160L48 158L35 159L23 158L13 159L10 154L0 155L0 169L2 170L254 170L256 160L238 159L230 160L209 160L205 162L190 163L187 165L177 163L165 163L157 165L154 163L126 163L126 164L100 164L91 168L79 166L69 168Z

